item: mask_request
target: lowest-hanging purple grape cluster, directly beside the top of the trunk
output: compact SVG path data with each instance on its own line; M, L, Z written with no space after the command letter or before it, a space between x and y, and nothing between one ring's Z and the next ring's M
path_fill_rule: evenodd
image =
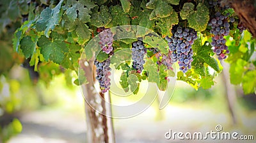
M110 79L109 76L111 75L111 68L109 67L110 59L106 59L103 62L94 61L96 66L96 79L99 81L100 89L102 89L102 93L106 93L110 87Z

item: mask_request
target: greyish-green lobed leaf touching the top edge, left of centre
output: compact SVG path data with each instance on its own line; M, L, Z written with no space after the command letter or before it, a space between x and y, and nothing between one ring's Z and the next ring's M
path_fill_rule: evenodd
M72 22L79 19L83 23L90 22L90 14L92 14L91 9L96 6L90 0L68 0L67 5L70 6L66 11L68 19Z

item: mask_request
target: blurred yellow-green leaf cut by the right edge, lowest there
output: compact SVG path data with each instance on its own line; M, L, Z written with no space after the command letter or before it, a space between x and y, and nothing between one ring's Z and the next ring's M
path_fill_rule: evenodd
M243 77L244 94L255 93L256 91L256 70L246 72Z

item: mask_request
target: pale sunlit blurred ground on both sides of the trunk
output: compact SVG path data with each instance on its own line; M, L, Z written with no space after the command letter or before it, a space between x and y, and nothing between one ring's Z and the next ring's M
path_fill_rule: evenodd
M256 116L239 116L243 122L232 126L230 117L223 113L206 109L182 108L168 105L164 109L165 119L156 119L156 111L149 108L143 114L131 119L115 120L116 142L174 142L164 139L164 133L173 132L209 132L215 130L217 124L223 126L225 132L240 132L256 137ZM82 113L81 113L82 114ZM255 114L255 113L254 113ZM152 117L153 116L153 117ZM245 119L246 118L246 119ZM158 120L158 121L156 121ZM25 142L85 142L86 124L83 115L63 111L37 111L24 114L21 118L23 130L13 137L10 143ZM186 140L185 142L198 142ZM175 142L179 142L176 140ZM180 141L181 142L181 141ZM205 142L205 140L204 140ZM235 142L235 140L209 140L208 142ZM237 140L237 142L241 142ZM248 140L244 142L250 142ZM252 141L253 142L253 141ZM254 140L255 142L255 140Z

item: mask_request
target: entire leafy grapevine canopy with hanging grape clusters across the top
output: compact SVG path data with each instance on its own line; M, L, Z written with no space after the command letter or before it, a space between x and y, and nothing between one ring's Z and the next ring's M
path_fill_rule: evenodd
M13 66L27 63L45 85L62 73L70 85L86 84L86 71L78 72L85 50L86 58L94 60L93 72L101 92L106 93L111 85L111 58L127 49L124 55L132 63L125 61L120 66L120 84L125 91L139 93L141 80L166 90L174 64L179 64L180 71L173 75L177 80L195 89L209 89L226 68L221 66L221 60L225 60L230 64L230 83L242 86L244 94L255 93L256 41L252 34L255 36L256 8L255 3L248 6L249 1L243 2L248 17L242 15L244 8L237 10L239 7L227 0L0 1L0 74L10 79L8 72ZM140 26L157 34L149 36L148 30L131 27L118 33L116 26ZM133 40L119 40L122 32L133 35ZM84 49L95 37L99 40L97 47ZM83 73L83 80L72 80L71 72Z

